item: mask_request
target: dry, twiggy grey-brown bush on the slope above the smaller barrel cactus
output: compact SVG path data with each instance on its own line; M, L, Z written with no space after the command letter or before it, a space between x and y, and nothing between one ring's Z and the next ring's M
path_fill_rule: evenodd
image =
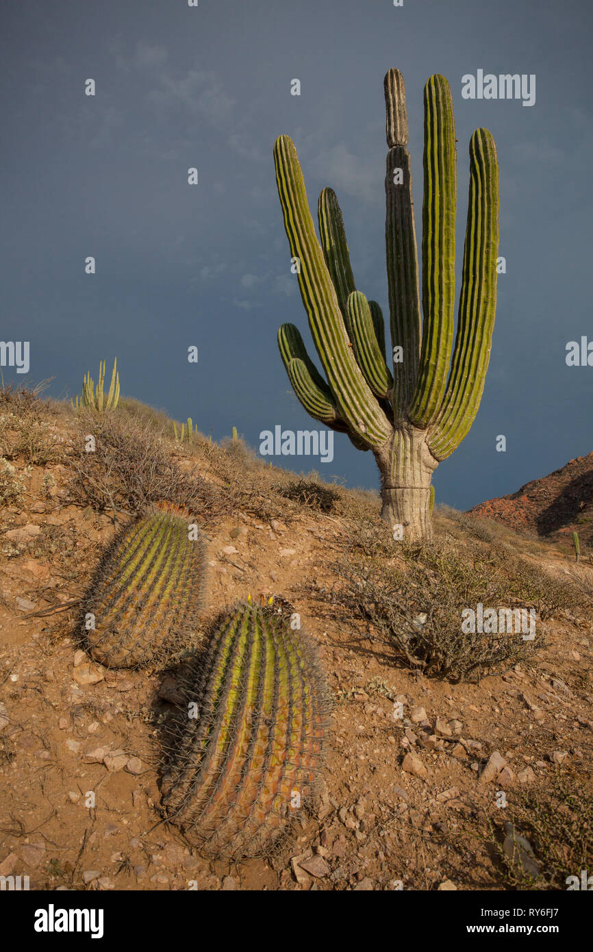
M168 500L204 519L228 511L224 493L183 472L168 444L146 423L109 413L82 416L79 427L81 448L70 464L69 489L80 505L135 513ZM85 451L87 434L95 437L94 452Z

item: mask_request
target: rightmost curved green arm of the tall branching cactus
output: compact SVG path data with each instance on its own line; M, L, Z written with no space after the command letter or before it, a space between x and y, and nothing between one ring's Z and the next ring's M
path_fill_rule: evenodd
M496 313L499 169L494 139L476 129L469 143L469 202L464 270L451 373L430 451L445 460L460 445L480 407Z

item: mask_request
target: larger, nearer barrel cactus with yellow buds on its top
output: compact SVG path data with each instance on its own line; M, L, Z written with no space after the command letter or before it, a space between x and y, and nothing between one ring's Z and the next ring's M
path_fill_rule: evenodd
M214 626L184 693L168 820L208 855L260 855L319 777L329 695L315 647L272 609L239 605Z

